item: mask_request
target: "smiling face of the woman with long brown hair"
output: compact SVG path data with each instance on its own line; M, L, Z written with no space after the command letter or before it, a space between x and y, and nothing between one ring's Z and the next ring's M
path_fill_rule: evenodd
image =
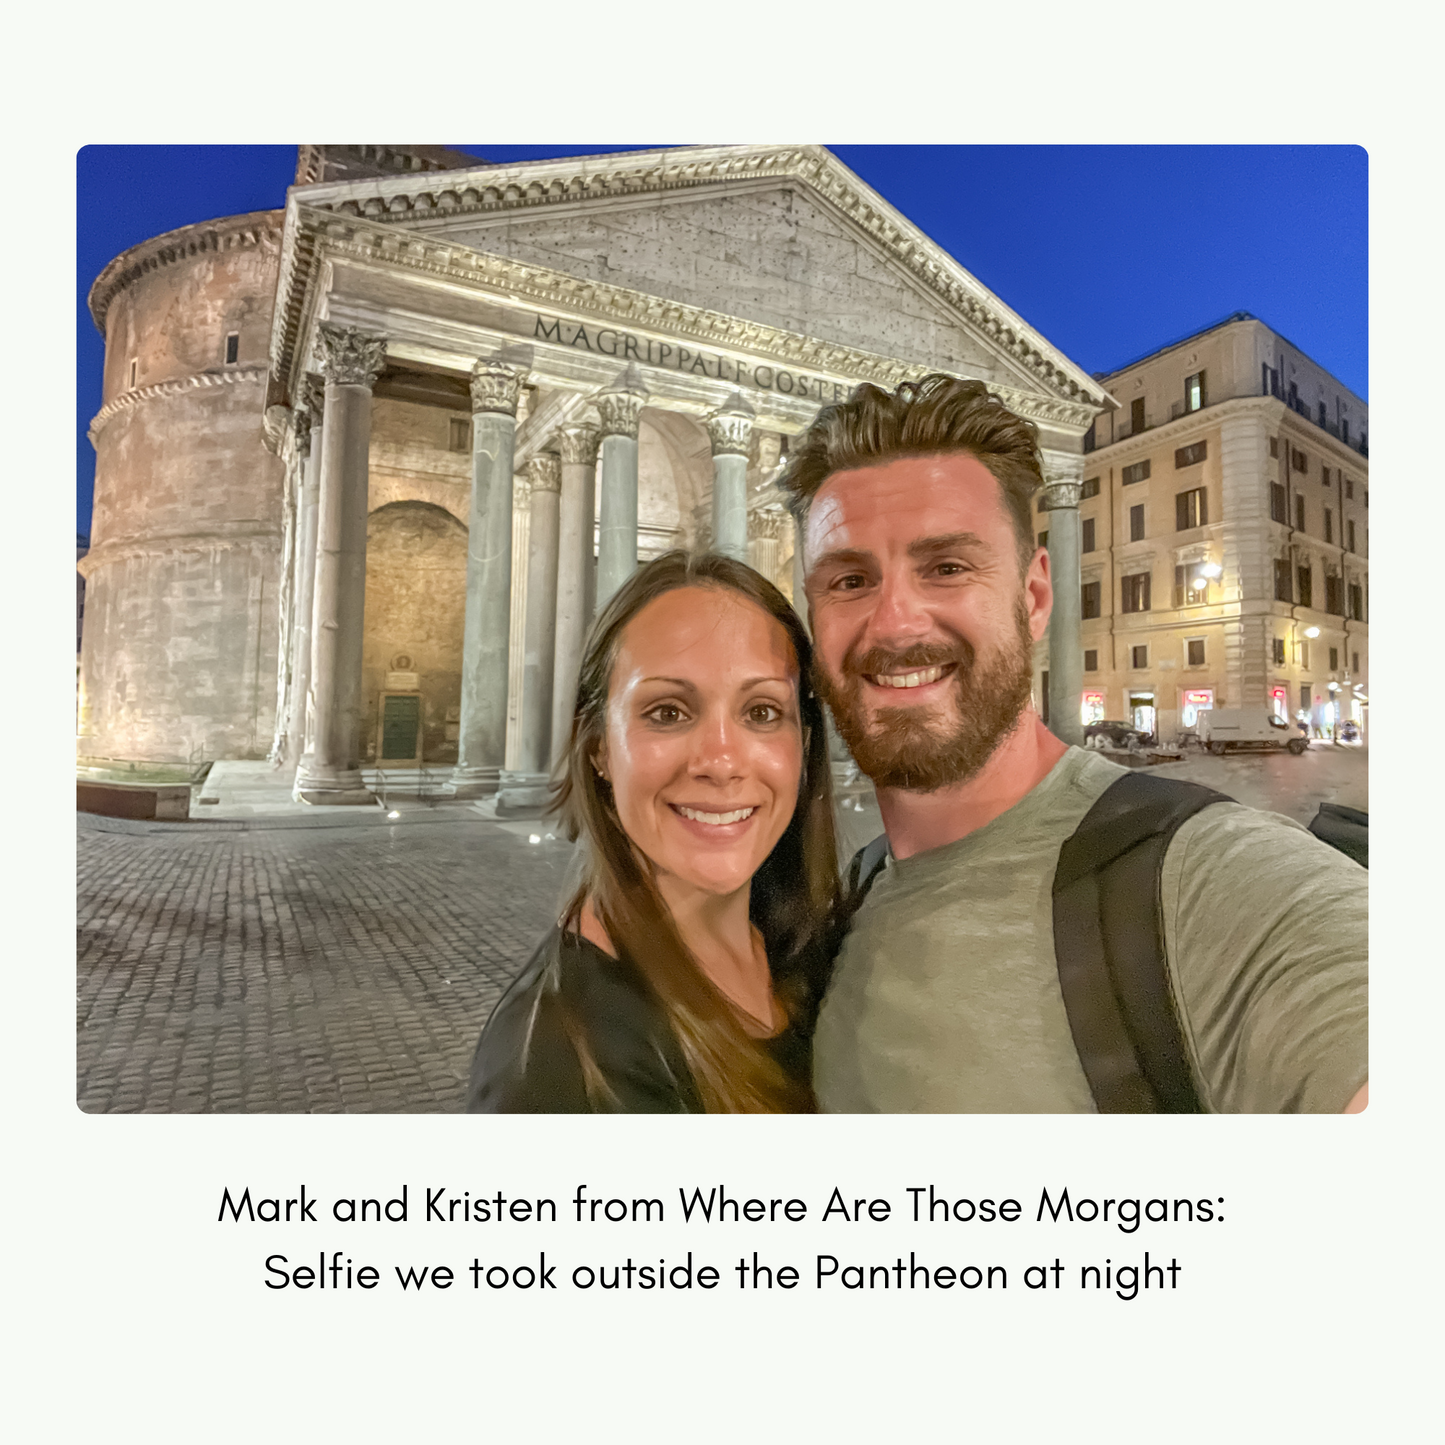
M659 884L743 887L802 779L798 662L782 626L720 587L681 587L623 630L595 760Z

